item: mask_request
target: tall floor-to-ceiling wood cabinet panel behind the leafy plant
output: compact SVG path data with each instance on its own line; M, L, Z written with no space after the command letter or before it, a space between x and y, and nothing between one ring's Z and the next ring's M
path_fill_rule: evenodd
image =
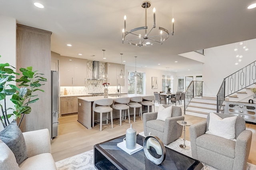
M51 34L50 31L17 24L17 72L21 67L32 66L33 70L43 73L48 80L44 86L40 87L45 92L34 92L38 94L39 100L34 104L29 104L32 111L22 120L20 125L22 132L47 128L51 136Z

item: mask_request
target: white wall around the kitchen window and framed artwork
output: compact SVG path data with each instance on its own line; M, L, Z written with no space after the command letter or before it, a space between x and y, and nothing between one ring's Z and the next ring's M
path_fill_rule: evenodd
M135 71L135 67L131 67L131 66L125 66L125 70L126 70L126 75L128 75L128 71L130 72L134 72ZM146 95L153 95L154 92L160 92L162 91L162 75L166 75L166 71L162 71L162 70L153 70L150 68L136 68L137 72L144 72L146 74L146 78L145 78L145 84L146 84ZM177 87L176 87L176 73L174 72L169 72L169 75L172 75L174 78L174 88L172 89L173 92L176 92ZM152 77L158 77L158 88L157 89L152 89L151 87L151 78ZM127 90L127 86L125 86L126 88L126 92Z

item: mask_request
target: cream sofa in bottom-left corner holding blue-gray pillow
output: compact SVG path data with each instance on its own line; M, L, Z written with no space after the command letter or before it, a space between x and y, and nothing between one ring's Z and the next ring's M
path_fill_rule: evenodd
M0 140L1 170L57 170L51 154L48 129L22 133L26 143L28 158L17 164L14 153Z

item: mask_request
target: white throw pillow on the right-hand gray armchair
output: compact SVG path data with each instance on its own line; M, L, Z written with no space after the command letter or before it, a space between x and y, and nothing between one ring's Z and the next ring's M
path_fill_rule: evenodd
M210 121L209 121L209 130L206 133L210 135L215 135L218 137L223 137L230 140L236 137L235 134L235 123L236 123L236 116L226 117L222 119L218 115L210 112Z

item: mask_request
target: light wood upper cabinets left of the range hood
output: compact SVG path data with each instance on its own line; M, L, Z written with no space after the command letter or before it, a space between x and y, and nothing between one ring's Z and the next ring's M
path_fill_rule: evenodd
M86 59L60 57L60 86L85 86L86 68Z

